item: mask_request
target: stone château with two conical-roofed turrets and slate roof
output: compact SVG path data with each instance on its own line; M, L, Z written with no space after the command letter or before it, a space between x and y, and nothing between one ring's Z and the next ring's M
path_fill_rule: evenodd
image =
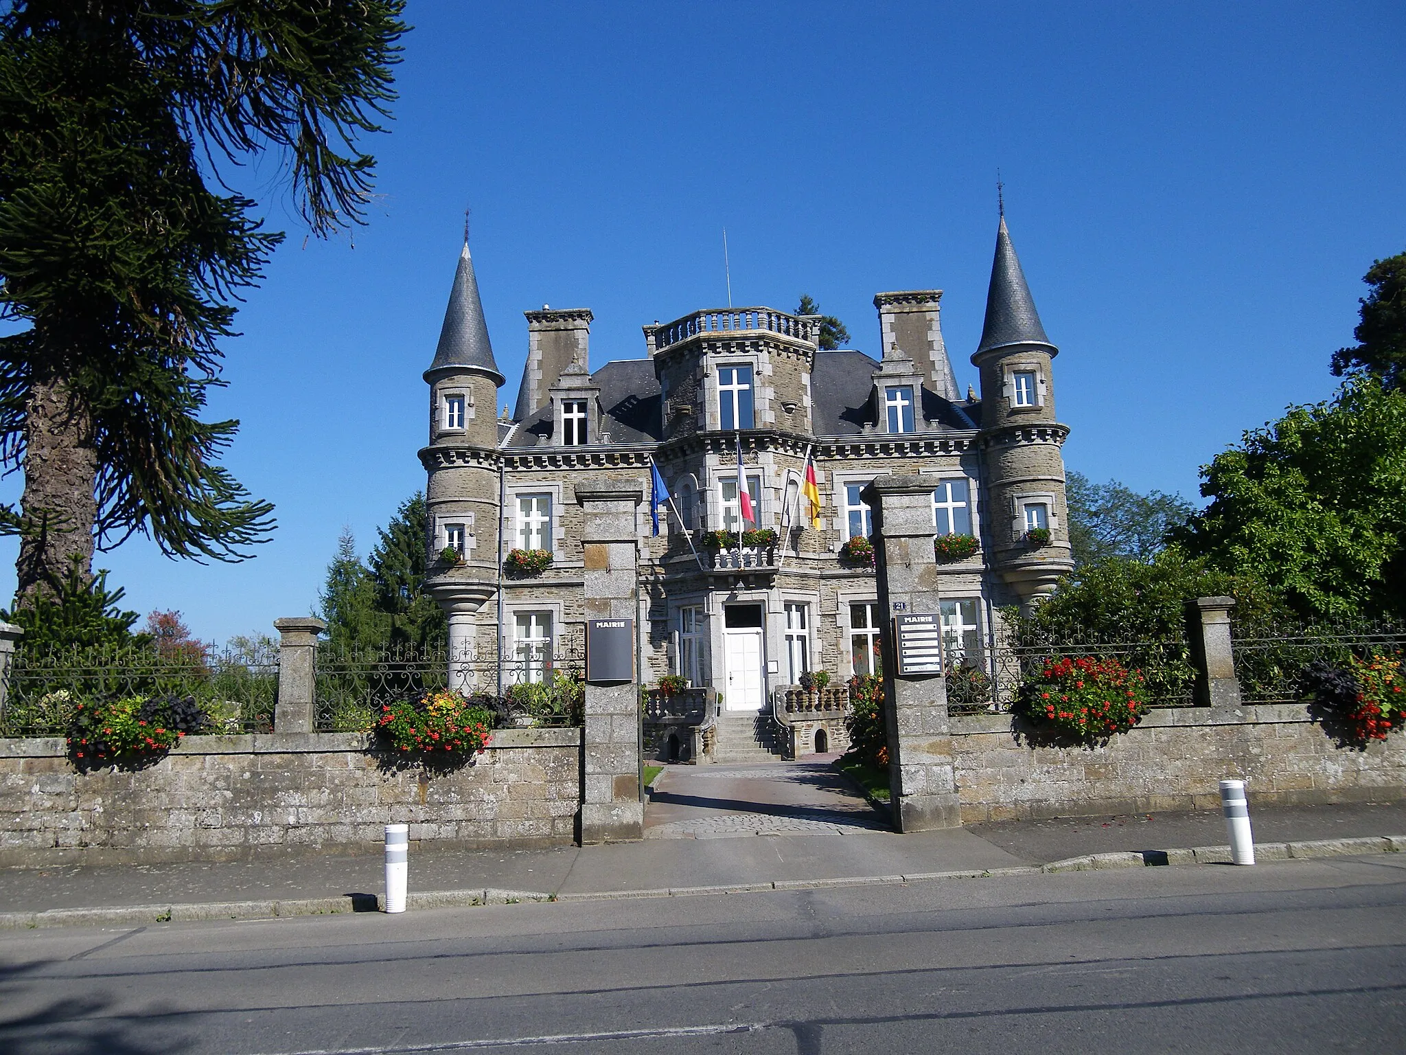
M449 613L451 664L484 686L489 677L538 679L553 660L579 658L575 488L585 481L644 495L641 684L679 674L717 689L725 715L749 717L806 671L824 670L837 685L876 672L887 613L877 610L870 563L848 557L845 543L872 530L862 492L876 475L921 473L932 477L935 535L976 540L970 556L939 563L945 658L984 667L997 609L1038 602L1071 567L1060 457L1069 429L1054 415L1057 349L1004 217L972 356L980 397L957 391L941 297L877 294L877 357L821 350L817 316L713 308L644 326L647 357L595 369L591 311L544 305L526 312L527 363L509 419L495 412L505 378L465 245L425 371L420 450L429 587ZM741 520L738 450L755 528L772 529L775 543L762 533L738 544L740 529L752 528ZM672 497L658 536L651 460ZM818 529L801 494L807 460ZM460 557L446 558L447 549ZM512 574L505 560L515 549L548 550L551 563Z

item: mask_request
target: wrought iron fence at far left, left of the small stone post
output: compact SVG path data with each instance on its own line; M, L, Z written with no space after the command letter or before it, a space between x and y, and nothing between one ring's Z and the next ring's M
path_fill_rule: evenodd
M193 696L212 733L273 729L278 698L278 648L156 646L32 650L10 664L0 736L63 736L80 701L128 696Z

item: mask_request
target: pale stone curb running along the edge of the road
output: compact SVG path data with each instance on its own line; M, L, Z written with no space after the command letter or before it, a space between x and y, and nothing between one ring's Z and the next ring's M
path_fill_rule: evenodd
M1406 850L1406 836L1368 836L1362 838L1319 838L1299 843L1257 843L1256 861L1309 861L1326 857L1361 854L1398 854ZM508 890L475 888L470 890L419 890L406 900L408 909L454 909L478 904L526 904L541 902L616 902L640 897L703 897L720 893L759 893L766 890L824 890L846 886L894 886L935 879L1000 879L1018 875L1059 875L1118 868L1156 868L1167 865L1230 864L1230 847L1191 847L1178 850L1126 850L1109 854L1083 854L1046 865L963 869L956 872L910 872L903 875L863 875L838 879L776 879L761 883L718 883L713 886L662 886L647 890L592 890L553 895L544 890ZM0 913L0 930L38 927L141 927L152 923L193 920L257 920L292 916L337 916L381 912L384 897L352 893L340 897L295 897L249 902L198 902L190 904L124 904L93 909L46 909L44 912Z

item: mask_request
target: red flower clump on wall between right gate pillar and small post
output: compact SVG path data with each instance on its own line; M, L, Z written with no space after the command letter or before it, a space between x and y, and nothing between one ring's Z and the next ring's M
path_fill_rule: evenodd
M1026 717L1077 740L1107 740L1147 713L1142 671L1092 656L1046 660L1022 693Z

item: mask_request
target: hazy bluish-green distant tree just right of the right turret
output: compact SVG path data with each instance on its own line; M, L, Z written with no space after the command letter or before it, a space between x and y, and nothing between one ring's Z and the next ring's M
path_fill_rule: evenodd
M1109 557L1150 561L1163 549L1167 530L1195 512L1180 495L1139 494L1116 480L1094 484L1083 473L1069 474L1064 495L1076 564Z

